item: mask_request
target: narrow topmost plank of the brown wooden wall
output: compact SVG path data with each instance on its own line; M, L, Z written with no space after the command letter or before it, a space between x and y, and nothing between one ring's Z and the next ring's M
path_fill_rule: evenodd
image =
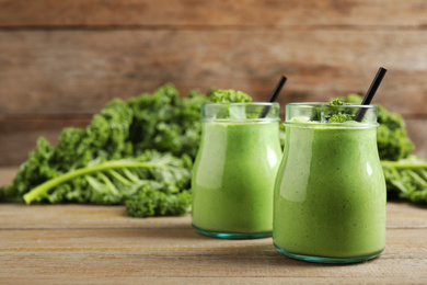
M0 26L424 26L424 0L0 0Z

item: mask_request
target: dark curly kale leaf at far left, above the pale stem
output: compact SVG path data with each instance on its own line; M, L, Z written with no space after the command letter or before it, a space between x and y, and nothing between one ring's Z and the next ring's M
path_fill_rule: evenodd
M118 159L131 155L127 141L132 111L122 100L114 100L94 115L85 128L66 127L59 142L51 146L45 138L37 140L12 181L0 190L2 201L22 202L22 195L38 184L72 169L82 168L94 159Z

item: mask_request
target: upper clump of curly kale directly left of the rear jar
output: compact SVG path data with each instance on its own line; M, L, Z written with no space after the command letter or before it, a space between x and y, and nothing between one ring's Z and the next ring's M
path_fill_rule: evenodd
M172 86L128 101L134 110L129 140L135 152L145 149L169 151L195 159L200 139L200 106L208 99L197 90L180 100Z

